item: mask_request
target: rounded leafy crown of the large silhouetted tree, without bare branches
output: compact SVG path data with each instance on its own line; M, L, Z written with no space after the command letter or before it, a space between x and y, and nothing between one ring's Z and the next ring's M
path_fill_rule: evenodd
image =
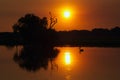
M14 32L19 32L22 36L28 37L30 35L32 37L39 34L41 31L45 31L47 29L47 24L46 17L40 19L34 14L26 14L14 24L13 30Z

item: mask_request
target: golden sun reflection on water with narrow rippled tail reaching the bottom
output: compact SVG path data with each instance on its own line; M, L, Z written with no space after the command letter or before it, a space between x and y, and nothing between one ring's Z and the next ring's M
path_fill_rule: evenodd
M61 74L64 74L65 80L72 79L72 71L76 65L76 56L79 48L71 47L58 47L60 53L57 57L58 68L61 69Z

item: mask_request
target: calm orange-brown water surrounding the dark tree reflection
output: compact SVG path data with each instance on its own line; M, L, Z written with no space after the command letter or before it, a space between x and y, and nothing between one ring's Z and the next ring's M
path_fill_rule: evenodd
M120 48L56 48L60 52L47 69L34 72L13 60L15 47L0 46L0 80L120 80Z

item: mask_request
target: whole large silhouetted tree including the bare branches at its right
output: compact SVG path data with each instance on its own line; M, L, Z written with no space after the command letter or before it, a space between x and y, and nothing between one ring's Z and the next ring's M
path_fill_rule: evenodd
M57 23L57 19L52 17L50 13L50 23L48 23L47 17L42 19L34 14L26 14L21 17L16 24L13 25L14 33L19 33L26 42L47 42L54 41L55 30L52 29Z

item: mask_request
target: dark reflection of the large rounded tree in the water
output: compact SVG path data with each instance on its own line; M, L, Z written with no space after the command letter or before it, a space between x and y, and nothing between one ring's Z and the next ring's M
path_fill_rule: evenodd
M53 66L52 61L58 53L59 50L52 46L24 45L20 51L16 50L13 60L27 71L37 71L41 68L47 69L49 61Z

